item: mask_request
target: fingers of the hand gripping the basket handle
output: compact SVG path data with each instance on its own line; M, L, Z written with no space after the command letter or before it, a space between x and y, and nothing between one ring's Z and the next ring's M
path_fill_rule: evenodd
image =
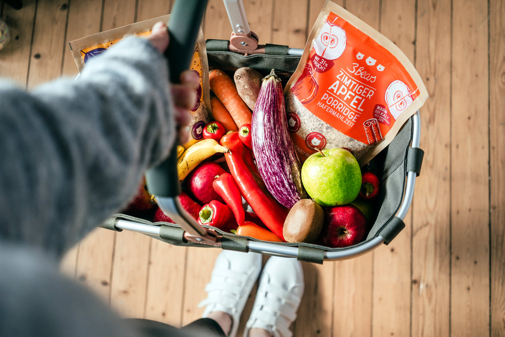
M165 52L169 43L167 26L163 22L157 22L151 29L151 34L149 34L147 39L161 53ZM179 142L181 143L185 143L188 140L188 133L184 129L190 121L188 110L195 105L198 85L198 74L187 70L181 73L180 84L172 84L171 86L172 97L175 103L174 118L179 131Z

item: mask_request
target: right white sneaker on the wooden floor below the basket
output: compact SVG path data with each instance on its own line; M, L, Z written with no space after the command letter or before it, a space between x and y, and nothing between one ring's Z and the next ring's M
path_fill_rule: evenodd
M296 318L304 288L304 273L298 260L270 257L263 268L244 337L251 328L265 329L274 337L291 337L289 327Z

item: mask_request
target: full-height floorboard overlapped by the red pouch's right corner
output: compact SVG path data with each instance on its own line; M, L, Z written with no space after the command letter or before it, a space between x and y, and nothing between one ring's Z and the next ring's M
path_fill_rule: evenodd
M449 2L418 2L416 68L429 99L421 108L421 148L412 235L412 335L448 336L450 306ZM436 140L436 141L434 141Z

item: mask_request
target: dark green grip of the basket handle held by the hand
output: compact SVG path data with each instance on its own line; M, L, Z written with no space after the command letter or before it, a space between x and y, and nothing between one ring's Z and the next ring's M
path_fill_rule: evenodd
M172 83L180 82L180 74L189 68L206 7L207 0L177 0L172 8L168 23L170 43L165 51ZM180 194L177 144L165 161L146 172L146 181L149 192L156 196L176 197Z

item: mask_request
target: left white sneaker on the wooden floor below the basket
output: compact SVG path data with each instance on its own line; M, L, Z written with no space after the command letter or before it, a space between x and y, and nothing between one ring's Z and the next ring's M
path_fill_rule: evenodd
M223 311L232 317L229 337L235 337L240 315L262 267L261 254L223 250L217 257L210 282L205 287L208 296L198 304L206 306L202 317Z

